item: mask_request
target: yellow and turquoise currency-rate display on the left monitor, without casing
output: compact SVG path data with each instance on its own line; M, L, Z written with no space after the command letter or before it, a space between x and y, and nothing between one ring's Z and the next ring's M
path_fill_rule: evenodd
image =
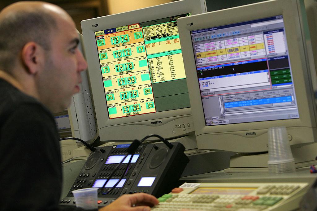
M176 19L95 32L109 118L190 107Z

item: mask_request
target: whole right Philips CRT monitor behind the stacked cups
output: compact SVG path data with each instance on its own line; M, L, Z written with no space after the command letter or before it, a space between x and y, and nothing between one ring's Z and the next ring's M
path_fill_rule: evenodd
M278 0L178 19L199 149L267 151L274 126L291 145L314 142L303 8Z

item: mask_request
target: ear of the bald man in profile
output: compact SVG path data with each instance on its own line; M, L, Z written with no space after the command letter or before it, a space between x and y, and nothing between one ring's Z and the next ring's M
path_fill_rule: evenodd
M36 74L44 61L44 50L36 42L26 43L21 52L22 62L29 74Z

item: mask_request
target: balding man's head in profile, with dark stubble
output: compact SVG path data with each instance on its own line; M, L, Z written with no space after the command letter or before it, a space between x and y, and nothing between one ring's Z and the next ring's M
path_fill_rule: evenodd
M0 69L52 112L65 109L87 68L71 17L44 2L18 2L0 12Z

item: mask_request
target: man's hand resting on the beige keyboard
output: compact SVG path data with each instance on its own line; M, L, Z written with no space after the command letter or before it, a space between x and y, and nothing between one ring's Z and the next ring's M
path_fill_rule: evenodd
M125 194L99 211L149 211L159 200L146 193ZM133 207L135 206L135 207Z

